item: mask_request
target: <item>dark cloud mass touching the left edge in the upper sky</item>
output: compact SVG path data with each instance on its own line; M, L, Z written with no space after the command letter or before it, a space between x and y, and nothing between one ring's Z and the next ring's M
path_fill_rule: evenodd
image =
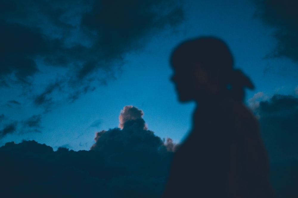
M14 74L19 81L38 72L32 55L44 51L45 41L37 29L0 20L0 76Z

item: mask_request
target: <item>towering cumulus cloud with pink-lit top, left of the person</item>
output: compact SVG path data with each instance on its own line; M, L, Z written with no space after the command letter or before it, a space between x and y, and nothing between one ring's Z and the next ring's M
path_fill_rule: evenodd
M143 158L131 156L133 153L159 155L160 152L175 151L176 144L172 139L167 138L165 142L164 139L147 129L143 115L142 110L132 105L125 106L119 115L119 128L97 132L91 150L110 152L112 156L115 153L121 153L121 157L129 153L128 159Z

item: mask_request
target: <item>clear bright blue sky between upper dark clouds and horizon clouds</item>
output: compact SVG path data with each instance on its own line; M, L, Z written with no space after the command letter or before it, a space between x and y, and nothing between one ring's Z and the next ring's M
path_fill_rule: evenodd
M274 94L295 95L295 88L297 90L298 86L297 63L291 57L265 58L277 45L274 32L278 26L264 23L256 14L258 7L252 1L181 1L173 5L180 12L172 13L174 18L165 17L162 25L148 22L148 27L136 27L143 28L144 31L123 31L122 33L131 33L133 36L127 36L124 44L114 39L119 43L111 45L115 49L118 46L118 51L111 51L111 45L106 45L103 41L92 44L92 41L97 42L96 36L100 33L94 34L98 29L92 29L92 24L87 22L84 24L86 27L89 24L87 28L90 31L86 31L86 27L80 24L79 15L91 13L91 1L84 4L77 2L61 14L59 23L57 18L51 18L51 11L55 11L55 4L64 8L68 6L67 3L63 5L55 2L48 11L45 4L33 6L28 3L25 6L27 9L21 13L26 17L21 18L16 13L18 8L1 16L1 20L6 20L7 24L38 27L41 35L60 39L63 44L57 49L60 49L62 56L65 50L63 47L69 49L69 46L77 43L87 49L86 52L81 52L79 47L73 48L73 54L65 50L65 54L73 59L68 60L66 65L63 65L62 60L60 65L58 63L55 66L55 61L45 64L43 58L48 55L51 58L51 54L52 57L59 58L59 54L37 53L33 50L32 53L36 53L36 56L31 55L37 70L32 75L23 74L18 77L17 72L3 72L2 78L6 85L3 83L0 87L0 114L4 115L0 125L4 129L7 124L17 123L17 128L15 132L1 138L1 145L24 139L36 140L54 149L66 146L75 151L89 150L96 132L118 126L119 113L125 105L142 109L148 129L156 135L180 142L191 129L191 116L195 106L193 103L181 104L177 101L174 86L170 82L172 71L169 56L173 47L183 40L202 35L213 35L226 41L234 55L235 68L242 69L255 84L253 91L246 92L247 104L258 92L263 93L259 100L268 99ZM158 4L159 1L156 2ZM28 15L30 10L33 11ZM105 27L105 23L101 23ZM131 28L134 31L135 27ZM90 49L92 45L95 46L94 49ZM97 45L100 47L95 49ZM106 53L97 56L96 50L106 50ZM92 70L91 63L90 67L85 67L92 71L84 79L71 73L81 71L84 58L90 56L101 66L95 66L97 69ZM55 83L63 86L55 86ZM38 96L49 91L51 85L55 88L50 94L44 94L44 100L36 102ZM35 124L26 125L30 119Z

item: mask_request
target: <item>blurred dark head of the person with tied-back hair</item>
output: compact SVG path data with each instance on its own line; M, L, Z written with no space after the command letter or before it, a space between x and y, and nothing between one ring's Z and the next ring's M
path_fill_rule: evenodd
M233 69L233 57L227 45L215 37L199 37L178 45L172 53L180 101L208 99L218 95L243 100L243 87L253 88L240 70Z

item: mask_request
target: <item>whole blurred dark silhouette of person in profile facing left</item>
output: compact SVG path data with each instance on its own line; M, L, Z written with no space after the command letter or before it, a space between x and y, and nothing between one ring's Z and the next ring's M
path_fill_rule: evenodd
M195 101L193 128L176 151L163 198L274 197L258 123L243 105L243 88L254 88L233 69L227 45L199 37L171 56L172 81L181 102Z

